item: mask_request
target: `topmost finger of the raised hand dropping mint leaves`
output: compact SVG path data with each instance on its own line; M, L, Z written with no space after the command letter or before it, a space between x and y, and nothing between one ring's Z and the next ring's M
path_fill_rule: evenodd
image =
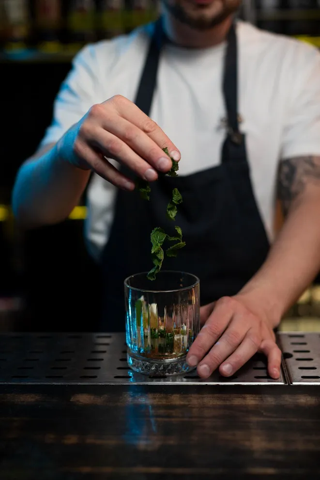
M171 142L164 131L151 120L148 115L142 112L137 105L121 95L116 95L107 101L111 101L117 112L123 118L133 125L136 125L136 127L148 135L160 149L168 147L168 152L173 160L179 161L181 159L181 153L175 144Z

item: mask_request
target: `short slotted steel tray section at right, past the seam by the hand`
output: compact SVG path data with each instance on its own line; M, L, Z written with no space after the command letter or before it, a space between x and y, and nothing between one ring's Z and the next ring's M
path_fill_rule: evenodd
M285 366L293 385L320 385L320 334L279 333Z

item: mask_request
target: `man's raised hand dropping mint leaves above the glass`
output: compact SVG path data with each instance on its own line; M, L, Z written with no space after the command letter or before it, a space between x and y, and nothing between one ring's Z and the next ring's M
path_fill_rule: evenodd
M134 183L108 160L119 161L137 176L152 182L157 172L168 172L171 160L180 160L177 147L158 125L127 98L116 95L93 105L56 145L59 158L81 169L91 169L113 185L134 190Z

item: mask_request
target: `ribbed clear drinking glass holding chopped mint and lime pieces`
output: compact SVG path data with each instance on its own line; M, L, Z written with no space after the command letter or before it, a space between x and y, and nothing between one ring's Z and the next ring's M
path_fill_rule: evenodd
M199 332L199 279L160 271L150 281L143 272L126 278L124 291L129 366L149 375L192 370L185 357Z

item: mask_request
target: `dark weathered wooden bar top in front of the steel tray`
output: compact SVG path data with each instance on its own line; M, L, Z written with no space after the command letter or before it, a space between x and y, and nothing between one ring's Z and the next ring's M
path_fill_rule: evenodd
M319 479L320 387L0 385L0 479Z

